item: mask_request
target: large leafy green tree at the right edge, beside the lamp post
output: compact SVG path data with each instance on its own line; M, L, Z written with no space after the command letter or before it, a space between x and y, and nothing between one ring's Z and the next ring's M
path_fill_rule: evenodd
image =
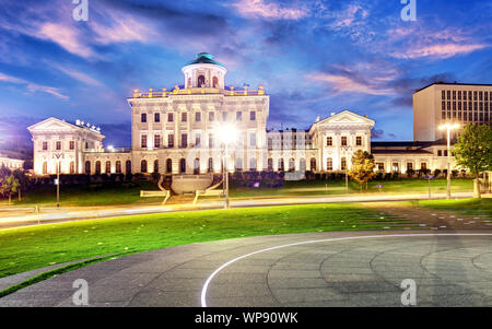
M455 144L453 154L458 166L475 176L476 191L480 198L479 175L492 171L492 128L490 125L468 124Z

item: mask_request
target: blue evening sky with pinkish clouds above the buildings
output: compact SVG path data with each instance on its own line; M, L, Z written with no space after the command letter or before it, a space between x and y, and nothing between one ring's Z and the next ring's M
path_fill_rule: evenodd
M103 127L129 146L133 89L183 84L208 51L227 85L263 84L270 128L350 109L374 139L412 140L411 95L435 81L492 83L492 2L417 0L0 0L0 143L50 116Z

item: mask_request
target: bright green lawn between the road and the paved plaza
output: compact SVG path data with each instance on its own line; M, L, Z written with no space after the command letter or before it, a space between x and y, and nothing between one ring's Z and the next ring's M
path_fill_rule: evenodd
M0 231L0 278L116 252L243 236L414 227L355 203L208 210L46 224Z

